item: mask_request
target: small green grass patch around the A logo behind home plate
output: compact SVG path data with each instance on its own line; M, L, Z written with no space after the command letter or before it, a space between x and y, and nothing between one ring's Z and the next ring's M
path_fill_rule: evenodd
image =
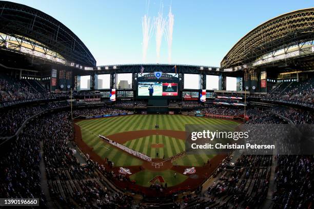
M174 186L176 184L179 184L183 181L185 181L188 177L176 173L176 177L174 178L174 171L172 170L165 170L165 171L160 171L160 172L154 172L154 171L149 171L149 170L143 170L139 173L133 174L130 176L131 180L135 180L136 184L139 184L141 186L150 186L150 180L152 180L156 176L162 176L167 183L167 186Z

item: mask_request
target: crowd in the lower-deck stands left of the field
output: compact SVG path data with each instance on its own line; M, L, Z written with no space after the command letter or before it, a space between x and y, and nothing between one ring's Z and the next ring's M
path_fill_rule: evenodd
M47 202L41 189L40 173L43 158L54 204L70 208L131 208L132 197L107 188L101 176L106 170L104 165L90 159L82 164L75 157L69 147L73 139L69 115L70 112L61 112L36 118L26 125L16 141L11 142L12 150L2 155L0 161L0 196L40 198L40 204L45 207Z

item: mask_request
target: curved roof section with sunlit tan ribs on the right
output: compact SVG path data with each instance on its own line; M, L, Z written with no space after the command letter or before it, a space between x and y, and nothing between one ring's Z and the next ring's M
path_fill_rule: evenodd
M314 39L314 8L289 12L251 30L227 53L221 68L249 64L265 53Z

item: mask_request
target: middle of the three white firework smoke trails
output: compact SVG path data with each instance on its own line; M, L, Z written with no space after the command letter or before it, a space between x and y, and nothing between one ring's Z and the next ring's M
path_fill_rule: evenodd
M157 55L157 62L159 62L160 59L160 47L161 42L163 38L163 34L165 31L166 26L166 19L163 17L163 9L162 4L160 8L160 12L158 12L158 16L154 18L154 24L155 24L155 31L156 31L156 55Z

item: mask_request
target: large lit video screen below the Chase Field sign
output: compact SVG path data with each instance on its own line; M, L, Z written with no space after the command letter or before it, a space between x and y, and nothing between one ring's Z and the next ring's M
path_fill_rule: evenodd
M138 96L178 96L178 83L139 82Z

